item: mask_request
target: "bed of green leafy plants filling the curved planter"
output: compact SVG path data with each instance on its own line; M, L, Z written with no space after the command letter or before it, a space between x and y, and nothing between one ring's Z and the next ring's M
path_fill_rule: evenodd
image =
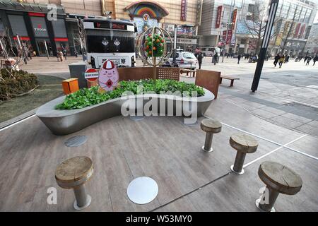
M138 87L142 86L142 92L138 93ZM99 86L93 86L92 88L83 88L67 95L64 102L57 105L55 109L81 109L92 105L98 105L101 102L112 100L121 97L126 91L136 94L143 94L147 92L154 92L160 94L161 92L173 93L179 91L181 94L185 94L190 97L192 92L196 92L197 96L204 95L204 89L190 83L179 82L169 79L158 79L156 83L153 83L152 79L145 79L139 81L121 81L117 88L110 92L100 93L98 92Z

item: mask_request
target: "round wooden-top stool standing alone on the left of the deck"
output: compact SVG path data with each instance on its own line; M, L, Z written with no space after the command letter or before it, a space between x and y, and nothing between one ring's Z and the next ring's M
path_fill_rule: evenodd
M92 175L93 162L86 156L72 157L57 166L55 171L57 184L64 189L73 189L76 198L73 206L76 210L90 206L92 198L86 194L84 184Z

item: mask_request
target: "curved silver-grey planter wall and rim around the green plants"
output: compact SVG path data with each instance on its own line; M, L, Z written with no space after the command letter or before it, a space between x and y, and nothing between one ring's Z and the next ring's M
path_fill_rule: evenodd
M205 95L196 98L197 104L197 117L200 117L206 112L208 106L211 105L214 99L213 93L204 88ZM137 99L141 100L144 97L148 97L148 100L143 99L139 102ZM45 105L42 105L37 109L37 117L56 135L66 135L79 131L91 124L95 124L98 121L108 119L117 115L121 115L121 108L126 101L132 101L135 103L135 108L143 108L144 105L151 99L156 98L158 101L158 112L160 112L160 100L165 99L165 114L167 114L167 105L173 101L173 115L176 112L182 112L183 116L189 116L189 111L184 111L182 109L182 104L184 102L195 102L195 98L191 97L178 97L175 95L156 95L156 94L145 94L145 95L129 95L126 97L119 97L116 99L108 100L102 102L98 105L93 105L89 107L84 107L82 109L69 109L69 110L59 110L54 109L56 105L64 101L65 96L58 97ZM137 101L136 101L137 100ZM136 105L139 103L139 106ZM142 106L141 106L142 104ZM191 104L190 104L191 105ZM191 108L191 107L190 107ZM169 115L169 114L168 114Z

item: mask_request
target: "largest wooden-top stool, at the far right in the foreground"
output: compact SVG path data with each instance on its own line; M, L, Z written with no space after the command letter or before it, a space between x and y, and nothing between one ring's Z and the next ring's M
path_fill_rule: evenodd
M295 195L302 188L302 179L292 169L277 162L266 161L259 165L259 178L266 189L255 204L261 211L275 212L273 205L278 194Z

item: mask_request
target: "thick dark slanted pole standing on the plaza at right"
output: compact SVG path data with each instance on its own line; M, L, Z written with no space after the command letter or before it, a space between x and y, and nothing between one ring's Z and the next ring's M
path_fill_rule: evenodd
M257 60L257 68L255 69L254 79L251 90L254 93L259 86L259 79L261 78L261 70L263 69L264 60L266 57L267 47L269 47L269 40L271 38L271 30L273 28L273 21L275 20L277 6L279 0L271 0L271 6L269 8L269 18L266 22L263 41L261 42L261 50L259 51L259 59Z

